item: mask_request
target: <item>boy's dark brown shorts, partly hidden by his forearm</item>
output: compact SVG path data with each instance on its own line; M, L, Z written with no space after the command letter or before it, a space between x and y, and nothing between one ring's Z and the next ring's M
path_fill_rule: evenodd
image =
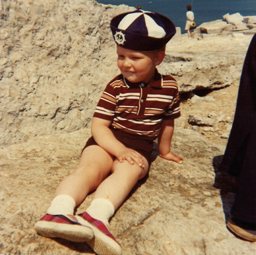
M146 158L146 160L148 160L148 166L151 165L151 153L153 151L153 141L142 138L140 135L125 133L119 129L111 129L111 131L113 132L113 135L117 140L119 140L127 148L134 149L135 151L139 152L141 155L143 155ZM96 141L93 139L93 137L90 137L87 140L84 148L82 149L82 152L86 147L90 145L98 145Z

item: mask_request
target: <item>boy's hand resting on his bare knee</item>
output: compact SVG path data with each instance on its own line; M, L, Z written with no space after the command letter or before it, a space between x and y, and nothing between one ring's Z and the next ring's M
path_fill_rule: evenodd
M144 167L142 155L133 149L125 148L120 150L118 155L116 155L116 158L120 163L127 160L131 165L136 163L138 166Z

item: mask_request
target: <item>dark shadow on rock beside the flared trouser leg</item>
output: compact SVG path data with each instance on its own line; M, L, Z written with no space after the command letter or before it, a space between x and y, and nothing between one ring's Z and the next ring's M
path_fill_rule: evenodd
M233 206L235 193L237 190L237 182L233 176L223 172L219 169L223 155L213 158L212 165L215 172L215 181L213 186L220 189L223 212L225 214L225 221L230 218L230 209Z

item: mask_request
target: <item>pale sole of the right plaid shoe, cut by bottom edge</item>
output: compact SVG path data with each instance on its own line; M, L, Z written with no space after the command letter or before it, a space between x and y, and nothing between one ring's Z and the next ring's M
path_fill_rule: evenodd
M87 241L87 244L96 252L98 255L122 255L121 246L109 236L102 233L89 221L84 220L81 216L76 216L79 223L84 226L91 228L94 232L94 238Z

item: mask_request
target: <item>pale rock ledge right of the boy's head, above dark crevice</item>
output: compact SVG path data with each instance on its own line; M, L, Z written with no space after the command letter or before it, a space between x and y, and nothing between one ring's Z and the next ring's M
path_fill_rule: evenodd
M184 38L185 45L182 44L182 40L171 40L166 46L164 63L158 67L163 74L175 77L180 93L224 88L240 79L240 68L245 53L240 55L236 47L241 49L239 40L245 42L247 37L244 38L245 40L236 38L237 41L232 40L231 34L221 37L221 40L211 35L199 41L189 40L187 37L181 38ZM237 46L233 48L230 42L237 43ZM222 51L226 43L229 47ZM245 52L246 50L245 47Z

